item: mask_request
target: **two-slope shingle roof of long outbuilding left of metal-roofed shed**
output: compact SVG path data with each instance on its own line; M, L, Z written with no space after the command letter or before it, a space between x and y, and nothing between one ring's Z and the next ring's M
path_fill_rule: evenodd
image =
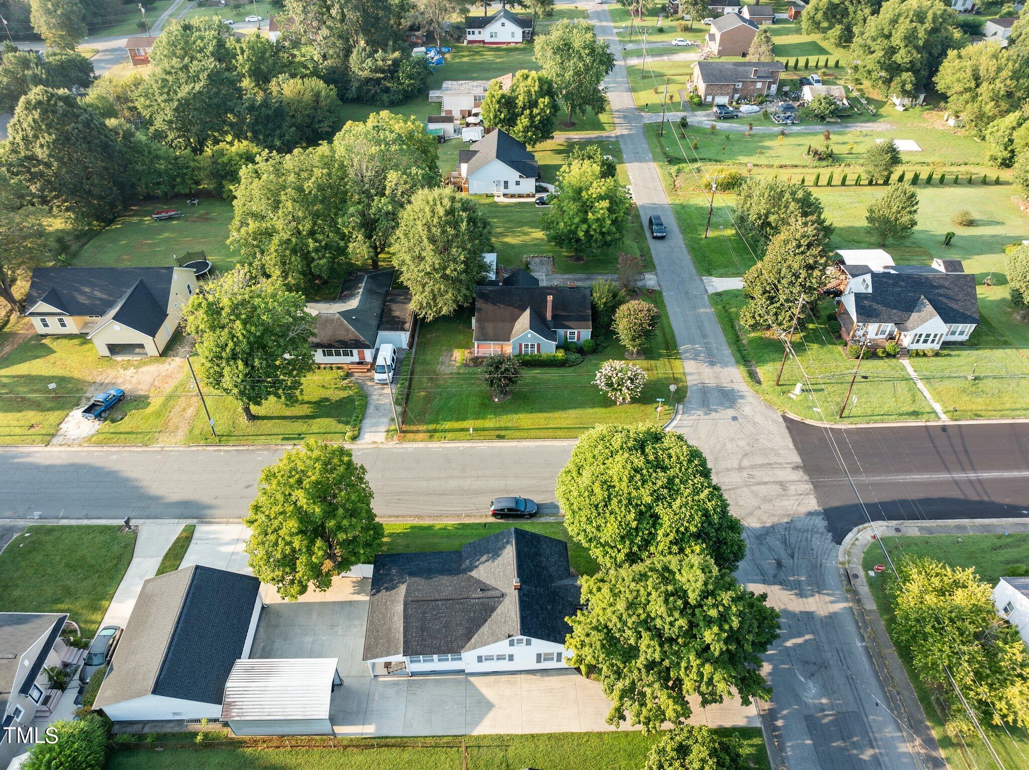
M95 706L146 695L221 703L259 588L250 575L201 565L144 582Z

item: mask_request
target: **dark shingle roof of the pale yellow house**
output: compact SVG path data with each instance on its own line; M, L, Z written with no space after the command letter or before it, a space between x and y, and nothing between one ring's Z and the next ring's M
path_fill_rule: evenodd
M40 301L68 316L114 319L151 337L168 318L178 267L37 267L25 298L29 316ZM98 328L99 328L98 324Z

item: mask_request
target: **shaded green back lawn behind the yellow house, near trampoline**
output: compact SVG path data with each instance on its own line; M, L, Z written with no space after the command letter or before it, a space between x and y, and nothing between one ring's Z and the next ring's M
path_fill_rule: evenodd
M150 219L162 209L178 209L185 216ZM166 266L175 264L175 254L206 251L216 270L229 270L236 264L225 245L232 220L233 205L222 198L204 197L197 207L186 206L184 197L137 204L82 247L75 266Z

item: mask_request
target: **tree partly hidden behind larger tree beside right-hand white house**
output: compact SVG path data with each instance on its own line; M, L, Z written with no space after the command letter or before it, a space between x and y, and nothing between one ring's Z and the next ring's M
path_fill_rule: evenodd
M821 200L807 187L778 179L748 177L736 196L736 222L750 248L764 253L769 241L790 222L810 219L825 234L832 225Z

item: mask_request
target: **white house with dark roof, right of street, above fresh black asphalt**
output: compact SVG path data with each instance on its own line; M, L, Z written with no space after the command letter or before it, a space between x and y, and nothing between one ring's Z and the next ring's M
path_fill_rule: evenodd
M880 250L865 250L878 252ZM870 344L896 341L908 349L939 349L962 342L979 324L975 277L959 259L934 259L927 265L887 264L872 255L841 268L848 277L837 317L844 338Z

